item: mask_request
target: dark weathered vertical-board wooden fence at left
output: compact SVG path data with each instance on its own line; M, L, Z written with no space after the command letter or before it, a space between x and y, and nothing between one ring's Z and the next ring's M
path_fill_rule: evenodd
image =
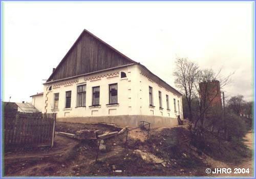
M56 114L41 113L5 113L4 144L5 148L53 146Z

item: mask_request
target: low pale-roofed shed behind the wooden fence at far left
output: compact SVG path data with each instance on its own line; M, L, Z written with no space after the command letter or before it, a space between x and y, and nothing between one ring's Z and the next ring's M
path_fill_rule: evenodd
M6 112L22 112L22 113L39 113L39 111L31 104L25 103L15 103L15 102L4 102L4 111Z

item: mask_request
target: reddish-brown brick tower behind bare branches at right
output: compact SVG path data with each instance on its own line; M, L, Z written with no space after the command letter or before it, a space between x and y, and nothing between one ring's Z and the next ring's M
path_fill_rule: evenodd
M202 105L222 108L220 81L204 81L199 84Z

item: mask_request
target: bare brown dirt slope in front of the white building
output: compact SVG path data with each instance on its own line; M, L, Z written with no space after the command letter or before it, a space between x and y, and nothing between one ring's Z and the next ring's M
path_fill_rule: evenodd
M119 131L121 127L96 123L56 123L56 131L75 133L80 129ZM187 133L184 132L186 130L182 127L152 128L150 137L146 140L146 130L132 130L126 144L126 133L104 140L106 150L99 152L97 162L95 141L79 141L56 135L53 148L37 147L5 151L4 174L5 176L209 176L205 173L206 168L225 167L224 164L220 165L218 161L210 159L207 155L199 156L197 152L191 150L187 145ZM251 137L246 137L248 137L246 144L252 146ZM146 163L134 154L135 149L151 152L164 162ZM248 164L248 167L252 168L250 161L246 160L244 165Z

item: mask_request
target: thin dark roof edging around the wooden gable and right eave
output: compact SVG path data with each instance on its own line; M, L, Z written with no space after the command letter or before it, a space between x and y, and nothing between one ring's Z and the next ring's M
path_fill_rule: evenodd
M54 73L56 73L57 69L59 68L59 66L61 65L61 63L66 59L66 56L68 56L68 54L71 52L72 48L75 46L75 44L79 41L79 39L81 38L83 33L88 33L90 34L92 37L96 38L97 40L99 40L101 43L104 43L106 46L108 46L109 48L111 48L113 51L115 51L116 53L118 53L119 55L121 55L122 57L124 57L126 60L129 60L131 63L127 64L127 65L134 65L134 64L138 64L140 65L143 69L147 70L151 75L153 75L157 81L160 82L160 84L164 87L166 87L167 89L170 89L171 91L174 91L176 93L178 93L179 95L182 95L180 92L178 92L174 87L170 86L168 83L166 83L165 81L163 81L161 78L159 78L158 76L156 76L155 74L153 74L150 70L148 70L144 65L132 60L131 58L125 56L124 54L122 54L121 52L119 52L118 50L114 49L113 47L111 47L108 43L104 42L103 40L101 40L100 38L96 37L95 35L93 35L91 32L89 32L88 30L84 29L82 31L82 33L79 35L79 37L76 39L75 43L73 44L73 46L70 48L70 50L68 51L68 53L62 58L62 60L60 61L60 63L57 65L56 69L53 71L53 73L51 74L51 76L48 78L47 83L52 83L55 81L62 81L62 80L66 80L66 79L71 79L71 78L75 78L75 77L79 77L79 76L85 76L85 75L91 75L94 73L98 73L98 72L103 72L103 71L109 71L109 70L113 70L113 69L118 69L118 68L122 68L123 66L127 66L127 65L121 65L121 66L116 66L114 68L109 68L109 69L104 69L104 70L100 70L100 71L96 71L96 72L91 72L91 73L87 73L87 74L82 74L82 75L77 75L77 76L73 76L73 77L68 77L68 78L63 78L63 79L59 79L59 80L54 80L54 81L50 81L50 79L52 78L52 76L54 75Z

